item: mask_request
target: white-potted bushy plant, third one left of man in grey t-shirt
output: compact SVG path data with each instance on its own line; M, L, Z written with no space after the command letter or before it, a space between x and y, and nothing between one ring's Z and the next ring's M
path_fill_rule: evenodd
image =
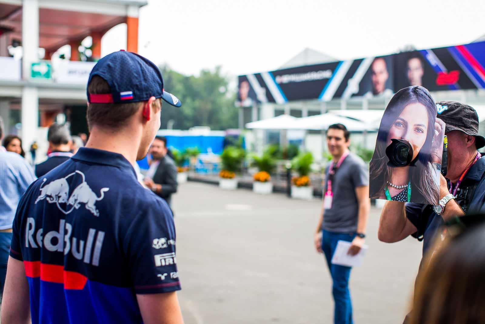
M221 154L222 168L219 172L219 187L223 189L238 188L236 172L241 171L242 161L246 156L244 149L236 146L226 146Z

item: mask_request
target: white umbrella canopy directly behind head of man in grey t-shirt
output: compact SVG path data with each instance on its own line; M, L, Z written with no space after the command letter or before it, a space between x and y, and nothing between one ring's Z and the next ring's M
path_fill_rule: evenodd
M326 113L295 120L291 129L325 130L332 124L343 124L350 132L375 131L377 128L364 122Z

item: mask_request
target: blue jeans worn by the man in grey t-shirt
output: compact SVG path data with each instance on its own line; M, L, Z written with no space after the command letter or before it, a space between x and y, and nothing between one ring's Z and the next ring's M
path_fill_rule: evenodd
M328 269L332 276L332 294L335 301L334 323L353 324L352 301L350 300L349 277L350 267L332 264L332 256L339 240L351 242L355 233L336 233L322 230L322 250L327 260Z

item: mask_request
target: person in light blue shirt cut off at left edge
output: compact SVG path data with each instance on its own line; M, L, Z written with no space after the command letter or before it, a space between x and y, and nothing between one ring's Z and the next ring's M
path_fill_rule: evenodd
M3 120L0 117L0 140ZM20 197L35 180L31 166L19 154L0 146L0 295L3 293L7 260L14 221Z

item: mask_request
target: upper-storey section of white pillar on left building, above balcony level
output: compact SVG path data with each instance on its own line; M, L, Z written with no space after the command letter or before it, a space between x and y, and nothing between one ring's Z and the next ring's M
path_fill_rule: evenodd
M22 71L24 80L31 75L31 65L38 62L39 48L39 2L23 0L22 6Z

